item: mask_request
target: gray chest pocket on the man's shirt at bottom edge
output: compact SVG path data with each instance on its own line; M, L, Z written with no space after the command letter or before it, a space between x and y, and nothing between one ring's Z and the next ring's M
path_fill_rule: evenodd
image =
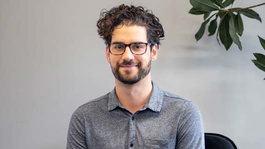
M176 139L150 139L144 138L145 149L174 149Z

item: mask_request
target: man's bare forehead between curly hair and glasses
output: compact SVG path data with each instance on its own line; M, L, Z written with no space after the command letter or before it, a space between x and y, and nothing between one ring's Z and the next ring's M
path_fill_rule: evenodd
M125 44L134 42L147 43L146 27L137 25L119 25L112 32L111 42L122 42Z

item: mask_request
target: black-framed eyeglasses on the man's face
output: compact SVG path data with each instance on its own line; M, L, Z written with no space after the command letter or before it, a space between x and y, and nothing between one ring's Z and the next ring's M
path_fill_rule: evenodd
M110 53L113 55L122 55L125 52L127 46L129 46L130 52L132 54L142 55L146 53L148 43L132 43L132 44L113 43L107 45Z

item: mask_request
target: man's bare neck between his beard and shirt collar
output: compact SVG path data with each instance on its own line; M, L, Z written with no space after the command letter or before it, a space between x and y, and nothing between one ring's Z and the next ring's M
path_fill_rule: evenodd
M143 108L152 93L151 73L136 84L124 84L115 79L119 102L131 113Z

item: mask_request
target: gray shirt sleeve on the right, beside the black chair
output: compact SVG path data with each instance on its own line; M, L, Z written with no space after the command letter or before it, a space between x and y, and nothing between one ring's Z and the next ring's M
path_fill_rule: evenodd
M198 107L188 101L181 114L177 129L176 148L204 149L204 129Z

